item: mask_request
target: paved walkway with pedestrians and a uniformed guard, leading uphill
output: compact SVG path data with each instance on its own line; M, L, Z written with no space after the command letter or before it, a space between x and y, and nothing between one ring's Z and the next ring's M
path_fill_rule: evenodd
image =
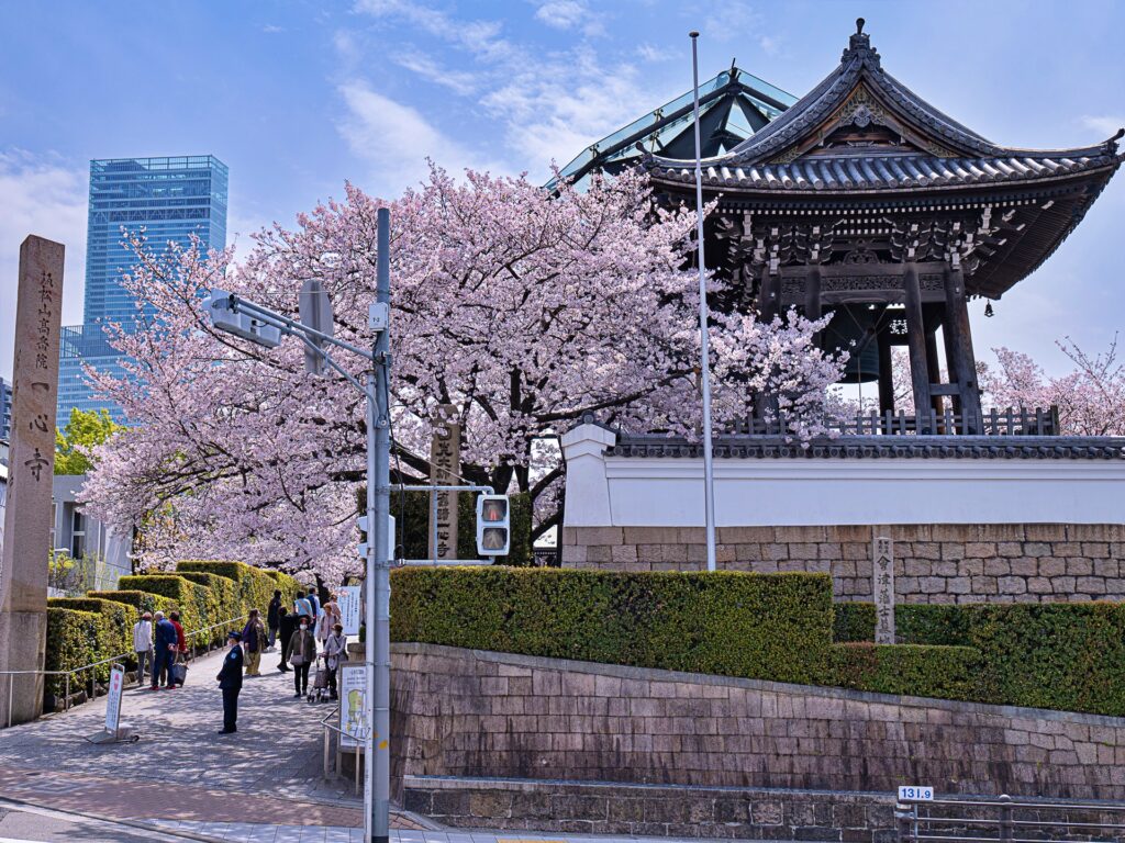
M137 743L86 740L102 727L104 697L0 729L0 794L116 818L360 825L350 782L323 780L320 719L331 709L294 699L276 653L263 656L268 673L245 680L238 732L216 734L224 655L195 660L183 688L126 690L122 723L140 733Z

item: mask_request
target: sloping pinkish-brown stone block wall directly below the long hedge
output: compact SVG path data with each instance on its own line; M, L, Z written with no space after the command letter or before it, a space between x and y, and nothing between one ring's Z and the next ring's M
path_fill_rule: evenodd
M393 645L393 776L1125 800L1125 718Z

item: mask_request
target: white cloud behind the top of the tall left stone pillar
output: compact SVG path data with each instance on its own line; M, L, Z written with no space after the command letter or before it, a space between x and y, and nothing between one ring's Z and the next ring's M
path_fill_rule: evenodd
M52 155L0 152L0 374L10 377L19 245L29 234L66 246L63 324L82 320L89 172Z

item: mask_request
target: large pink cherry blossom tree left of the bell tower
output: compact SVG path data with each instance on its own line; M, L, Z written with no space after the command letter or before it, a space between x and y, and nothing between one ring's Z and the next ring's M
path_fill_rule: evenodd
M296 342L264 350L214 330L204 300L222 288L296 312L302 281L316 278L336 335L369 345L385 206L403 471L426 470L417 455L428 453L430 419L452 405L465 475L530 492L546 529L558 518L562 466L533 464L550 451L544 438L590 413L630 429L695 429L694 215L657 208L641 174L584 192L564 183L554 197L525 178L454 180L438 167L393 202L348 185L343 201L298 217L295 229L256 235L241 265L230 250L159 253L132 234L138 264L124 284L141 329L111 337L129 377L91 375L136 426L98 450L84 497L109 523L145 520L152 561L227 555L336 581L356 571L361 397L340 378L306 374ZM792 312L772 325L717 316L717 419L745 414L748 395L770 389L794 435L814 435L842 365L816 350L822 327ZM361 361L341 362L360 374Z

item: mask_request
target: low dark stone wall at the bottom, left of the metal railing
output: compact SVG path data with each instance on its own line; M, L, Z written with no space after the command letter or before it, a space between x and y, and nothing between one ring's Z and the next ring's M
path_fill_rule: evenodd
M894 843L894 798L766 788L408 776L404 807L458 828Z

